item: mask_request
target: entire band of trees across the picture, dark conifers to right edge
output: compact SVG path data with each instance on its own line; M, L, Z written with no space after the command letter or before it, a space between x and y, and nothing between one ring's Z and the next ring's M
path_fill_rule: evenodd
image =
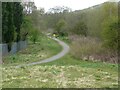
M76 34L97 37L103 46L117 50L118 46L118 3L105 2L84 10L72 11L69 7L53 7L45 13L37 9L34 2L2 3L2 41L25 40L28 35L33 43L39 32L52 29L58 36Z

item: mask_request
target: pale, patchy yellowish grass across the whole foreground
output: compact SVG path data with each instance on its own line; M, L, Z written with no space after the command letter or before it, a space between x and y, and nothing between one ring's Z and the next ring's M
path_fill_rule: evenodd
M116 71L95 67L36 65L18 69L3 68L2 86L3 88L117 88Z

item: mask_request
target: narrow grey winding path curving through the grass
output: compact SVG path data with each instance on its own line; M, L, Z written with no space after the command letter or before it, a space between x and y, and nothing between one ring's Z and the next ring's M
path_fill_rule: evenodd
M49 38L51 38L51 37L49 37ZM31 66L31 65L41 64L41 63L52 62L52 61L55 61L55 60L63 57L65 54L67 54L69 52L70 48L67 44L65 44L63 41L61 41L57 38L52 38L52 39L57 41L63 47L63 50L60 53L58 53L57 55L52 56L50 58L44 59L42 61L33 62L33 63L29 63L29 64L18 65L18 66L16 66L16 68L20 68L22 66Z

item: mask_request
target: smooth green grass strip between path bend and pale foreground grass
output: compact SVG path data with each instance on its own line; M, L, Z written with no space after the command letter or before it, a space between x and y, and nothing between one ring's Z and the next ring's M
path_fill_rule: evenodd
M71 54L68 54L66 56L64 56L63 58L53 61L53 62L49 62L46 64L41 64L41 65L57 65L57 66L61 66L61 65L65 65L65 66L69 66L69 65L79 65L81 67L86 67L86 68L101 68L101 69L110 69L110 70L117 70L118 65L117 64L112 64L112 63L106 63L106 62L100 62L100 61L84 61L84 60L78 60L75 59Z

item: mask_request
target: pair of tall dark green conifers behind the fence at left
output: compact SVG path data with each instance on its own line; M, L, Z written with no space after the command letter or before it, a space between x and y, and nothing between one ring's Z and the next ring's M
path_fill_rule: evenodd
M20 28L22 24L23 8L20 2L2 3L2 42L8 44L9 51L11 43L20 40Z

